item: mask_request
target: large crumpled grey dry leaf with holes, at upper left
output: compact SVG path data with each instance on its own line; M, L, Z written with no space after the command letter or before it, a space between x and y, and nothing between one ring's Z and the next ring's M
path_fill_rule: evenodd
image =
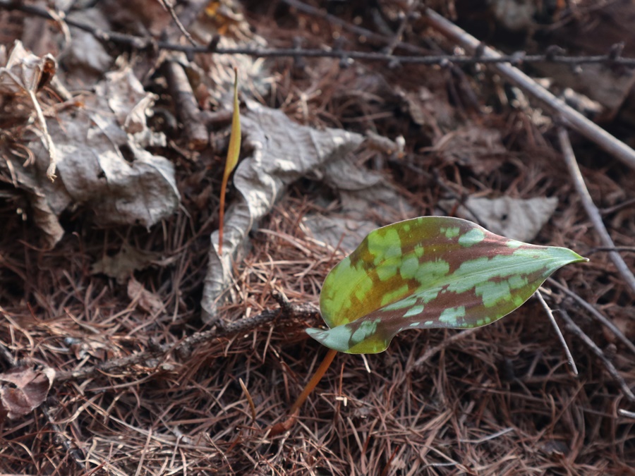
M61 179L54 184L43 173L48 157L39 138L30 138L28 143L34 166L23 166L15 147L4 145L2 156L10 169L4 171L4 180L40 199L37 209L42 216L37 224L46 226L44 245L52 248L61 238L57 216L71 204L92 209L101 225L150 227L176 209L180 195L174 166L143 149L153 134L140 109L151 104L152 95L143 90L130 68L124 68L108 73L83 105L78 102L59 111L49 121Z

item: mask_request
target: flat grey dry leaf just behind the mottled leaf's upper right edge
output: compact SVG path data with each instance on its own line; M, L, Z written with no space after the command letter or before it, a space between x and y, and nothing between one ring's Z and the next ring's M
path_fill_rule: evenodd
M451 209L454 200L441 200L439 205ZM528 200L512 197L468 197L457 210L457 216L471 221L484 221L483 226L498 235L530 242L549 221L558 206L556 197L535 197ZM472 210L474 216L468 209Z

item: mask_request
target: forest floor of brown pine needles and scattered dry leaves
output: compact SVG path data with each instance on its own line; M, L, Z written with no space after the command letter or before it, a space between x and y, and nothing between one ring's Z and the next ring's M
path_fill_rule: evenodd
M635 290L584 207L558 114L494 66L390 61L462 53L418 1L176 3L196 44L298 53L171 51L191 44L158 0L0 2L5 53L20 40L35 55L16 58L17 83L0 76L0 473L632 474ZM428 2L502 51L538 54L552 42L605 54L617 41L603 32L622 32L616 8L631 8L546 3L526 2L535 11L519 26L484 1ZM70 9L51 19L47 4ZM150 38L164 44L135 43ZM326 48L333 57L302 54ZM555 94L610 83L569 103L635 145L632 71L582 65L571 84L571 66L541 64L516 66ZM275 188L277 200L219 256L234 66L241 161L260 151L277 162L270 182L243 185ZM632 270L635 170L569 132ZM239 195L230 181L226 219ZM296 425L271 436L326 354L304 330L322 325L329 269L370 229L425 215L512 238L535 228L531 243L590 258L542 288L578 374L531 298L483 328L406 331L385 353L339 353ZM219 273L222 298L210 291Z

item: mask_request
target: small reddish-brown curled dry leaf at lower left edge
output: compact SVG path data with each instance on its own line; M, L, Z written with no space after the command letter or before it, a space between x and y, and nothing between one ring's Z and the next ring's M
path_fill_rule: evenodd
M0 374L0 422L26 415L39 407L53 385L55 370L16 367Z

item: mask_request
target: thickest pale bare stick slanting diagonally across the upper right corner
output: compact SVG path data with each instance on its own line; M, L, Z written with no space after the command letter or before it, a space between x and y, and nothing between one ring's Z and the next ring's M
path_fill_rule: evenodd
M427 8L425 13L428 16L428 20L430 20L430 24L444 35L447 35L456 42L459 42L459 44L466 49L471 51L482 51L482 56L479 56L479 58L483 59L483 62L487 62L486 60L498 60L502 58L500 53L490 47L483 47L483 44L479 42L478 39L469 35L464 30L461 30L461 28L457 27L446 18L443 18L435 11L430 10L430 8ZM527 62L526 57L522 57L519 61L520 60L522 62ZM619 58L616 60L619 60ZM566 61L561 62L564 63ZM534 97L547 104L551 109L557 111L557 113L563 116L564 120L581 135L586 137L588 140L595 142L617 159L623 161L624 164L627 164L631 167L631 169L635 169L635 150L624 144L624 142L617 140L603 128L600 128L597 124L589 121L588 118L584 117L571 106L565 104L562 99L555 97L544 87L538 85L536 81L531 79L518 68L512 66L512 64L506 63L513 64L514 61L506 61L505 63L496 64L495 68L509 80L512 80L517 85L523 87Z

